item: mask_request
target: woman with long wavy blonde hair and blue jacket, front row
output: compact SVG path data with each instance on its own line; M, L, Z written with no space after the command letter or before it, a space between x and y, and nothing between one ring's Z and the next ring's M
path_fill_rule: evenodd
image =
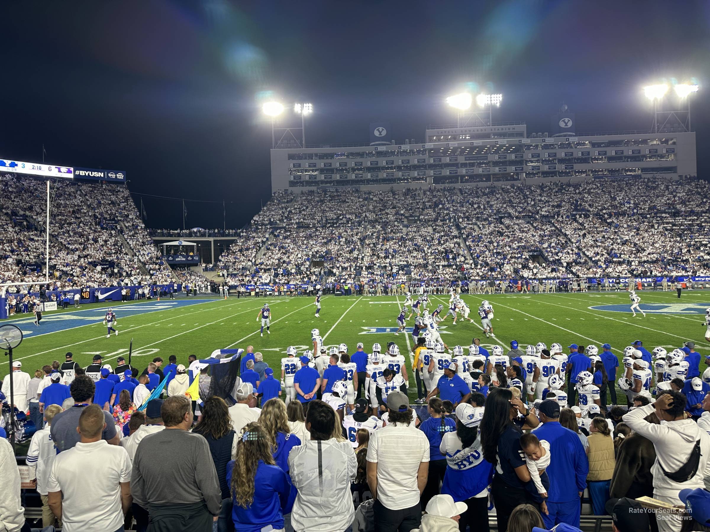
M276 465L272 447L273 440L260 423L247 423L236 445L236 457L227 464L226 481L234 504L231 519L240 532L284 530L291 485Z

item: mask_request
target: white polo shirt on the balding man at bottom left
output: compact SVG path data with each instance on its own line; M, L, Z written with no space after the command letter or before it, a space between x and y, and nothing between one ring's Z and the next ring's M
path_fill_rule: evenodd
M87 475L87 472L97 474ZM47 489L61 490L62 530L109 531L124 523L120 482L131 482L131 459L120 445L106 440L77 443L59 453Z

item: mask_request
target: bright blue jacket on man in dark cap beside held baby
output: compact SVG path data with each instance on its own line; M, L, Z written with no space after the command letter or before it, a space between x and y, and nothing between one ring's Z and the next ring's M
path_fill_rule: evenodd
M547 477L550 478L547 500L579 501L577 492L584 492L586 475L589 473L589 460L579 436L569 428L564 428L558 421L542 424L535 429L535 436L550 443L552 460L546 470Z

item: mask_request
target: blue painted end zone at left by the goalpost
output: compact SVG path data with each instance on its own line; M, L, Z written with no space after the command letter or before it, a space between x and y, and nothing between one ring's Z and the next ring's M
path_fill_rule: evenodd
M121 318L137 316L138 314L148 314L150 312L159 312L169 309L180 309L183 306L192 306L201 303L209 303L209 301L219 301L219 299L176 299L174 301L144 301L142 303L132 304L116 304L112 308L116 313L116 329L121 332ZM106 314L108 305L94 306L87 309L55 311L51 314L43 314L40 326L36 326L34 314L22 314L19 319L4 320L2 323L12 323L21 328L25 338L33 338L34 336L42 336L44 334L56 333L58 331L67 331L85 325L93 325L94 323L102 323L104 314Z

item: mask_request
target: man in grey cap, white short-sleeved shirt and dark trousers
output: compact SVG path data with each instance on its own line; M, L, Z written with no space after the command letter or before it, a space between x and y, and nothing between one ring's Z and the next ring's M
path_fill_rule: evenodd
M405 394L388 394L387 408L388 424L373 432L367 450L375 530L409 532L422 519L420 496L428 480L429 440L412 426L412 409Z

